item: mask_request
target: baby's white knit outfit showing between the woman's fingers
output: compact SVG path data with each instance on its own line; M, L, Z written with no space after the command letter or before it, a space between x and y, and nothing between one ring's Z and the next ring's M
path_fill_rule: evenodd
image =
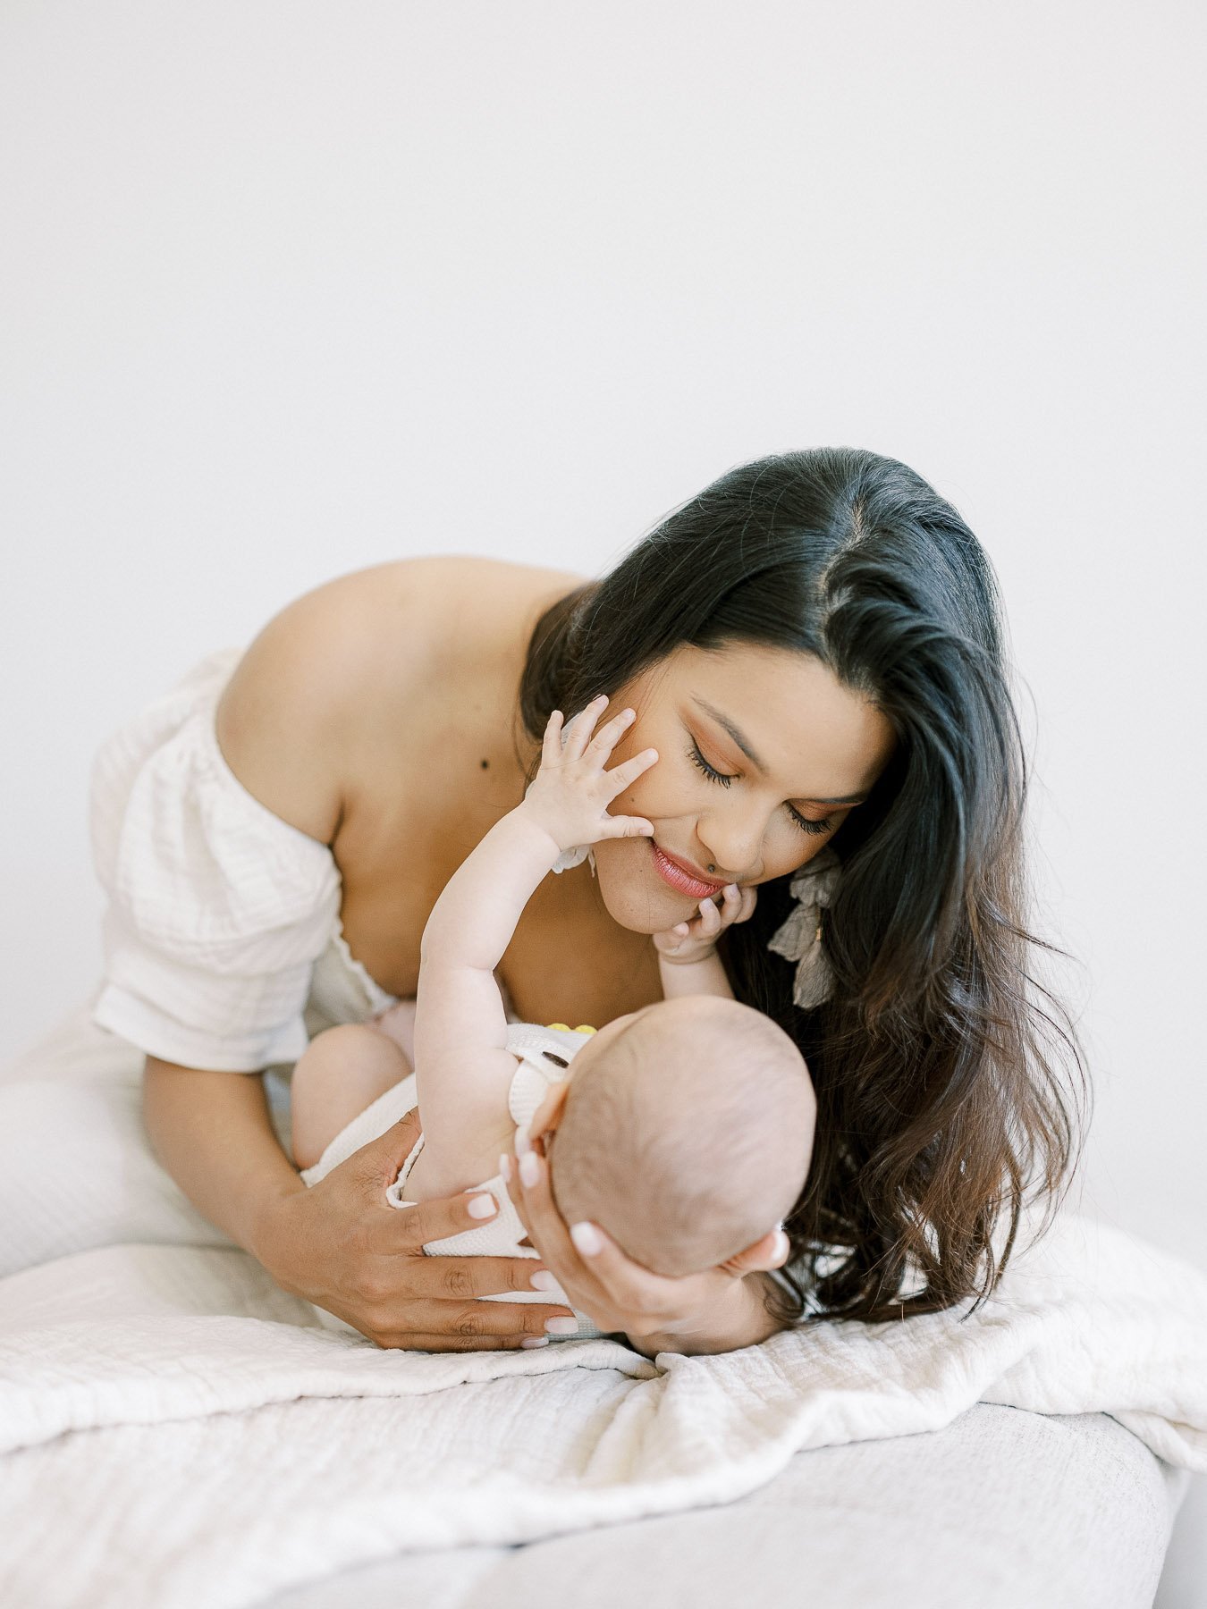
M529 1123L536 1115L536 1109L544 1101L549 1086L566 1078L566 1068L547 1060L546 1052L560 1056L563 1062L573 1064L575 1056L578 1056L589 1038L589 1033L579 1033L575 1028L542 1028L539 1023L529 1022L513 1022L509 1025L507 1049L517 1057L517 1068L507 1091L507 1109L517 1126ZM415 1075L412 1073L409 1078L404 1078L401 1083L380 1094L372 1105L364 1109L364 1112L357 1112L352 1121L340 1130L335 1139L327 1146L314 1167L303 1170L303 1181L306 1184L317 1184L319 1179L327 1178L332 1168L340 1167L340 1163L351 1157L354 1150L367 1146L372 1139L377 1139L378 1134L385 1134L385 1131L393 1128L393 1125L404 1118L407 1112L414 1112L415 1105L417 1089ZM402 1191L406 1189L410 1170L422 1150L423 1136L420 1134L406 1162L399 1168L398 1178L386 1191L386 1200L391 1207L406 1208L415 1205L415 1202L404 1200ZM536 1247L520 1245L520 1241L526 1237L528 1231L512 1205L512 1197L507 1194L507 1186L504 1184L501 1173L494 1173L489 1179L483 1179L481 1184L472 1184L468 1189L486 1191L492 1195L499 1208L496 1216L488 1223L478 1224L473 1229L465 1229L460 1234L451 1234L441 1241L428 1241L423 1247L426 1253L433 1257L539 1258L541 1253ZM579 1310L573 1307L558 1284L555 1284L552 1290L504 1290L497 1295L481 1297L480 1300L555 1302L568 1307L578 1318L578 1334L552 1335L550 1340L554 1342L583 1340L592 1335L605 1334L602 1329L595 1327L586 1313L579 1313ZM335 1318L332 1313L325 1313L322 1308L315 1308L315 1313L325 1327L356 1334L349 1324L344 1324L343 1319Z

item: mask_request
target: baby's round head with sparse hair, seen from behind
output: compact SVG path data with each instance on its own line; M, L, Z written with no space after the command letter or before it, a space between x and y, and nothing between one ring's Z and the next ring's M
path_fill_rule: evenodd
M653 1273L713 1268L795 1207L814 1115L805 1060L769 1017L660 1001L575 1057L544 1141L554 1200Z

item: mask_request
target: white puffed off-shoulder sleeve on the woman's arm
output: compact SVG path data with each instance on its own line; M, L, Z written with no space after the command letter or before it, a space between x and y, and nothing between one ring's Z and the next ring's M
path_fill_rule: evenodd
M340 872L222 758L214 713L238 658L212 655L103 745L90 829L108 895L95 1022L163 1060L241 1073L306 1049Z

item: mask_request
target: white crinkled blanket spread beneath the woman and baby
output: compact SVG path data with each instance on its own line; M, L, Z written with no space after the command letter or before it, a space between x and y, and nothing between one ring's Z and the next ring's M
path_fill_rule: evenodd
M307 1323L237 1250L111 1247L0 1281L0 1601L249 1606L407 1548L724 1503L801 1448L975 1401L1102 1409L1207 1471L1207 1281L1075 1216L962 1321L718 1358L383 1353Z

